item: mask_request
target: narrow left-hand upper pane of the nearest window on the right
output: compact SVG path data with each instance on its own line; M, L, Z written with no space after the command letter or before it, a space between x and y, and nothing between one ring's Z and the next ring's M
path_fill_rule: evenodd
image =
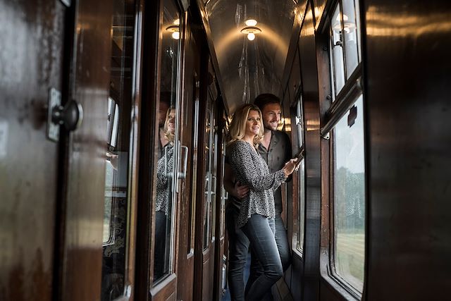
M330 47L332 51L330 51L332 62L332 83L333 90L335 94L333 95L333 99L335 96L340 93L342 87L345 85L345 65L343 62L343 45L342 45L342 23L340 16L340 6L335 8L333 12L332 20L330 22Z

